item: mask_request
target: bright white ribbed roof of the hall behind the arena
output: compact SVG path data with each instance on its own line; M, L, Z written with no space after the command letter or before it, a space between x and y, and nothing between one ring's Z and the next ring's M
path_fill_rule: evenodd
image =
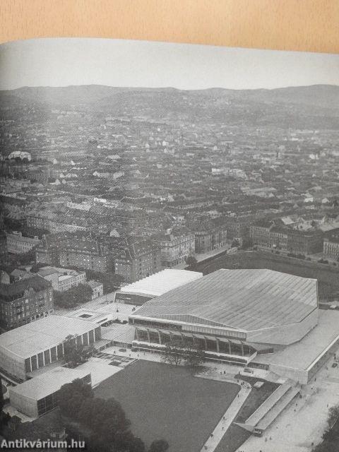
M158 297L169 290L202 278L202 276L203 273L196 271L167 269L136 281L136 283L125 285L119 292Z

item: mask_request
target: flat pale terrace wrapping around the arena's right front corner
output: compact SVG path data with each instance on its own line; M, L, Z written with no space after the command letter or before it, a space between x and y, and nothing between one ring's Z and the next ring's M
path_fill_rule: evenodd
M319 309L318 325L302 340L272 355L258 355L252 362L307 370L339 338L339 311Z

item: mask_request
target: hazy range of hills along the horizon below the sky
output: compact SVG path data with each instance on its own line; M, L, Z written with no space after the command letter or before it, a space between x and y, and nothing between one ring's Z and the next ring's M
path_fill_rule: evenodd
M311 85L273 90L177 90L80 85L23 87L0 91L0 112L30 106L43 112L72 106L102 114L161 121L204 121L249 126L339 129L339 86Z

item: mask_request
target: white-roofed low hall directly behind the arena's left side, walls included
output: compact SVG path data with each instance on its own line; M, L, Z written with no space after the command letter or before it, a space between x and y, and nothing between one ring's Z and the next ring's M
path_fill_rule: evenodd
M188 270L165 269L155 275L150 275L136 283L125 285L115 293L115 302L135 304L140 306L149 299L176 289L191 281L203 277L203 273Z

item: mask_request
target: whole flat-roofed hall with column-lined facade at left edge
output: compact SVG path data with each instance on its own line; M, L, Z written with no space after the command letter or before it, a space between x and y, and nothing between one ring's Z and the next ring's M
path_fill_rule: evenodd
M0 335L0 371L24 381L30 372L64 357L64 341L74 335L78 345L101 338L97 323L64 316L49 316Z

